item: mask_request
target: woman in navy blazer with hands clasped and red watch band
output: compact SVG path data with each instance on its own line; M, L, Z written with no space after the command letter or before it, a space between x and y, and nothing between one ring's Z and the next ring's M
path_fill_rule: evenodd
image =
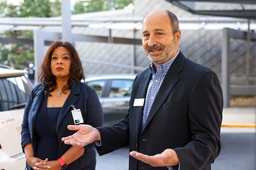
M25 107L21 145L28 170L95 170L93 145L80 148L61 142L72 135L67 125L102 126L103 111L96 91L82 83L84 73L70 42L53 42L40 66L39 85Z

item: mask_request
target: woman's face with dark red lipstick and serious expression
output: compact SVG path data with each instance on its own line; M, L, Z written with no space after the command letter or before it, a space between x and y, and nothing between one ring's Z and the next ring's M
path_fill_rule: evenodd
M57 47L52 51L51 71L56 79L70 78L71 57L67 48Z

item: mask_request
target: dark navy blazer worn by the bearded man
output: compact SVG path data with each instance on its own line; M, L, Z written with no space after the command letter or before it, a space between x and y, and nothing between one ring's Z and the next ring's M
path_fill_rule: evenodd
M220 127L223 96L217 75L192 62L180 52L169 68L154 99L143 130L143 106L134 99L146 97L151 79L149 69L134 80L130 108L125 119L115 126L99 127L100 155L129 144L129 150L147 155L172 148L180 170L210 170L221 150ZM129 170L168 170L151 167L130 156Z

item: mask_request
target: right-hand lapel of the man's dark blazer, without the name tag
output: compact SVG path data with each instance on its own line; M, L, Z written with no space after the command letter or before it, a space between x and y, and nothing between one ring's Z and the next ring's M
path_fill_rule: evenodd
M172 88L175 86L176 82L180 79L178 73L183 70L184 65L184 56L180 52L175 61L172 63L169 71L167 72L165 78L163 79L163 83L157 92L157 96L154 99L154 102L151 106L151 110L148 113L148 118L145 122L144 129L148 125L148 123L153 119L154 115L157 113L159 108L163 105L163 102L169 96L172 91Z

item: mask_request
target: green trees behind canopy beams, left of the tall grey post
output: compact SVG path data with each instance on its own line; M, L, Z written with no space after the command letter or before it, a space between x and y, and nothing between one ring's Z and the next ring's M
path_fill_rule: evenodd
M0 5L1 17L56 17L61 15L59 0L54 3L49 3L49 0L24 0L22 6L7 6L5 0L0 1ZM5 31L2 36L33 39L33 31ZM34 63L32 45L2 44L0 51L0 63L12 68L24 69L29 63Z

